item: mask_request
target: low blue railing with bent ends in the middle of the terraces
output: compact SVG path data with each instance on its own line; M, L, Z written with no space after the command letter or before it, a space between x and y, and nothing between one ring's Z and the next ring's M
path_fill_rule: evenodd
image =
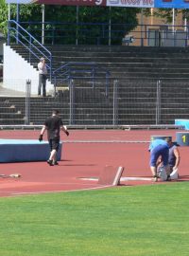
M73 67L72 65L75 66L89 66L89 69L78 69L77 67ZM63 76L65 76L65 78L62 78L61 81L67 81L70 82L71 80L75 80L75 79L83 79L83 77L81 76L76 76L76 73L91 73L91 76L89 77L89 79L92 80L93 82L93 87L94 87L94 75L96 74L96 71L98 71L100 69L100 72L98 73L105 73L105 77L106 77L106 96L108 96L108 90L109 90L109 78L110 78L110 71L103 68L103 67L99 67L98 64L96 63L79 63L79 62L70 62L70 63L65 63L62 64L60 67L58 67L57 69L55 69L53 71L53 77L55 79L54 84L55 84L55 90L56 90L56 86L57 86L57 79L58 78L62 78ZM61 70L61 71L60 71ZM59 72L59 74L57 74ZM73 74L75 73L75 74Z

